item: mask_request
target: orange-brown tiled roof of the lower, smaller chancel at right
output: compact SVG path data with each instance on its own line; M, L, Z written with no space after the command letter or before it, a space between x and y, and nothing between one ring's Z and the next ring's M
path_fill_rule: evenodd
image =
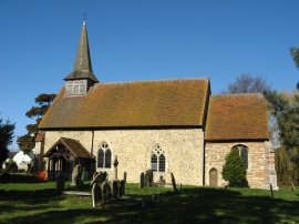
M267 140L267 104L262 94L224 94L210 98L206 141Z

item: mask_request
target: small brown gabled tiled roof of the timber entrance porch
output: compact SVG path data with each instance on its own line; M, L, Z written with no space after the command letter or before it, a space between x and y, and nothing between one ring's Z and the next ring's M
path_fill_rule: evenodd
M66 138L61 138L43 156L48 157L58 144L63 144L75 157L94 159L78 140Z

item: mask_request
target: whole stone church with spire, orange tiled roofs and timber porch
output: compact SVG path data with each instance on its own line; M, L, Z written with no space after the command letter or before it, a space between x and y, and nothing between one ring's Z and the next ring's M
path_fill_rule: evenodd
M100 82L92 70L83 22L73 71L65 78L35 138L39 166L49 180L71 177L74 165L106 171L117 156L118 175L138 183L224 186L225 156L237 150L250 187L276 185L266 100L261 94L212 95L210 80Z

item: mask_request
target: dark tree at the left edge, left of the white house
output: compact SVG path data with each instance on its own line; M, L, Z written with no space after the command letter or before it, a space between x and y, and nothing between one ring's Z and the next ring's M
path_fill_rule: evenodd
M2 163L8 159L8 146L13 139L14 124L11 124L8 120L4 122L0 119L0 167Z

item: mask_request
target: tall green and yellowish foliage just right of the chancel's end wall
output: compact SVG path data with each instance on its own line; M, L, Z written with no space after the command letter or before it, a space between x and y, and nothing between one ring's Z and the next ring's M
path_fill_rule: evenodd
M277 120L281 144L276 152L276 171L279 184L299 184L299 94L286 95L276 91L266 98L272 115Z

